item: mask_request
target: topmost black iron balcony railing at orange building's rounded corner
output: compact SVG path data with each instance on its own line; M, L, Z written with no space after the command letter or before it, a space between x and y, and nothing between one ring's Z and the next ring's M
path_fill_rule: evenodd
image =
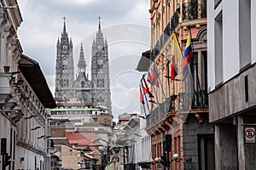
M207 18L207 1L183 3L183 20Z

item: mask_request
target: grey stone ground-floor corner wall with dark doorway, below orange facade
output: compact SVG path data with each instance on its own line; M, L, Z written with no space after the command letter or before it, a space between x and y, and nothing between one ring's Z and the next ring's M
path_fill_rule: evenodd
M183 162L184 169L214 169L214 127L207 117L198 123L195 116L189 116L183 124ZM209 143L207 143L209 141ZM212 146L212 150L207 148ZM209 152L208 154L206 154ZM207 156L213 159L206 161ZM212 165L213 164L213 165Z

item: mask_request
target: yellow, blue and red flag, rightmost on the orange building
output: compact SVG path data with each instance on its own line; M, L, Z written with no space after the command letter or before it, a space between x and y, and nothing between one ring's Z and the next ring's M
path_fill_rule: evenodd
M193 51L192 51L192 44L191 44L191 36L190 32L188 35L185 51L184 51L184 58L183 58L183 76L184 78L188 75L188 64L190 62L190 59L193 58Z

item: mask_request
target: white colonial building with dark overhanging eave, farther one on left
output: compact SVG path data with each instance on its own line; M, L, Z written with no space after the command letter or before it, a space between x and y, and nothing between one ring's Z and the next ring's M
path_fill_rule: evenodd
M20 105L17 106L23 116L16 123L15 168L49 169L50 127L46 109L55 108L55 100L36 61L21 55L18 71Z

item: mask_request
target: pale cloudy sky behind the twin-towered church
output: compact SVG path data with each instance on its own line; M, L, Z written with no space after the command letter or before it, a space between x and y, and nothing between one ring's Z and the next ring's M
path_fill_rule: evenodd
M143 51L150 46L148 0L18 0L23 22L18 30L23 53L38 61L52 92L55 89L56 42L65 16L74 47L74 66L80 43L90 74L90 48L96 36L98 16L108 39L113 116L137 112L138 84L135 71Z

